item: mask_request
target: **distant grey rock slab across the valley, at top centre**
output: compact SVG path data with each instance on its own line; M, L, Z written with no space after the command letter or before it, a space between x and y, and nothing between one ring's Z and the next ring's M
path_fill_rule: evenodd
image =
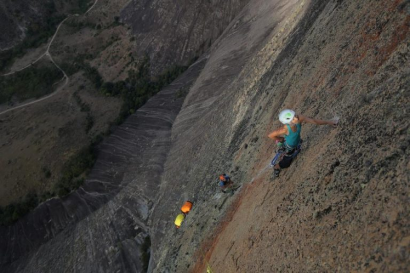
M153 72L202 55L249 0L132 0L121 20L132 28L136 51Z

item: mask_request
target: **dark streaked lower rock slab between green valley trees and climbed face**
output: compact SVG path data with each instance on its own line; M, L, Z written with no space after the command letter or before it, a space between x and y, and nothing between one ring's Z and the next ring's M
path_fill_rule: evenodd
M171 127L205 58L151 98L101 146L75 193L0 229L1 272L141 272L140 248L170 147Z

